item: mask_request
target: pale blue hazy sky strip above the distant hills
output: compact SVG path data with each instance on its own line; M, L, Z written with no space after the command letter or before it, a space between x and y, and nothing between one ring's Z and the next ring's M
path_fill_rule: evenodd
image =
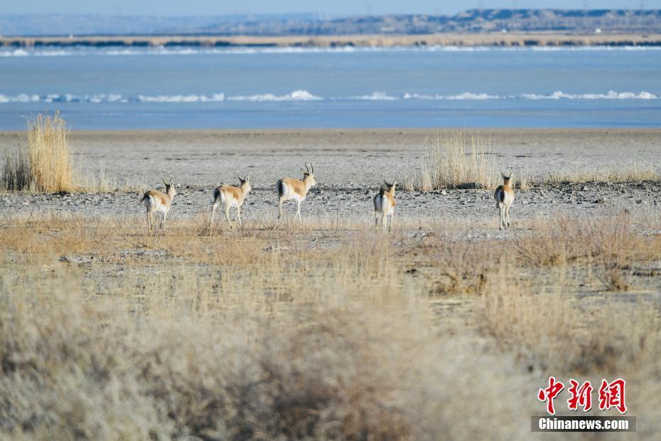
M638 9L640 0L21 0L2 1L0 14L228 15L319 12L331 15L453 14L472 8ZM645 0L661 9L661 0Z

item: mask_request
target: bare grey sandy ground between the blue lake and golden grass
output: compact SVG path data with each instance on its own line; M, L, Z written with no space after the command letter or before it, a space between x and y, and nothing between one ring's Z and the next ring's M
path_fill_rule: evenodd
M237 184L249 174L254 191L244 218L276 216L275 182L300 177L311 161L319 185L303 203L303 216L331 213L370 219L372 196L384 179L401 179L419 168L421 153L438 131L428 129L269 130L269 131L136 131L75 132L76 161L119 184L142 188L162 186L162 178L178 184L172 216L208 210L213 188ZM633 164L661 171L661 129L479 129L466 132L490 140L495 164L503 171L543 176L554 170L618 169ZM0 132L0 155L24 144L20 132ZM0 157L1 157L0 156ZM535 186L517 192L512 220L559 211L598 216L627 208L658 214L661 184L572 184ZM141 213L141 193L31 195L0 194L6 212L65 211L71 213ZM493 196L483 190L445 193L398 192L400 219L466 216L497 219ZM294 213L294 206L287 207ZM497 220L494 221L497 223Z

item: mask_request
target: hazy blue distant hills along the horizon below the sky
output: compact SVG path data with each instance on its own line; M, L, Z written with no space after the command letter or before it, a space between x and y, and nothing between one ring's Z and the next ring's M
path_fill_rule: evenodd
M0 15L0 35L331 36L355 34L660 33L661 10L471 9L454 16L326 18L319 14L235 16Z

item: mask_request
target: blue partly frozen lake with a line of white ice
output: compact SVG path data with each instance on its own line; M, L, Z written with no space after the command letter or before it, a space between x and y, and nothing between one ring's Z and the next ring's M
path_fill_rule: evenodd
M660 127L659 48L0 50L0 129Z

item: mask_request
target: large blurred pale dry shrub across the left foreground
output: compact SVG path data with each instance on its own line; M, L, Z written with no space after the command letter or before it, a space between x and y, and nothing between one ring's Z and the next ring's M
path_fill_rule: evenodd
M396 292L375 301L331 286L318 297L299 294L278 314L247 307L220 315L163 293L167 306L142 314L123 297L85 300L70 272L23 277L0 285L6 437L529 435L525 425L483 423L530 413L520 404L530 379L512 378L511 361L463 338L439 340L424 305ZM498 373L479 368L495 363Z

